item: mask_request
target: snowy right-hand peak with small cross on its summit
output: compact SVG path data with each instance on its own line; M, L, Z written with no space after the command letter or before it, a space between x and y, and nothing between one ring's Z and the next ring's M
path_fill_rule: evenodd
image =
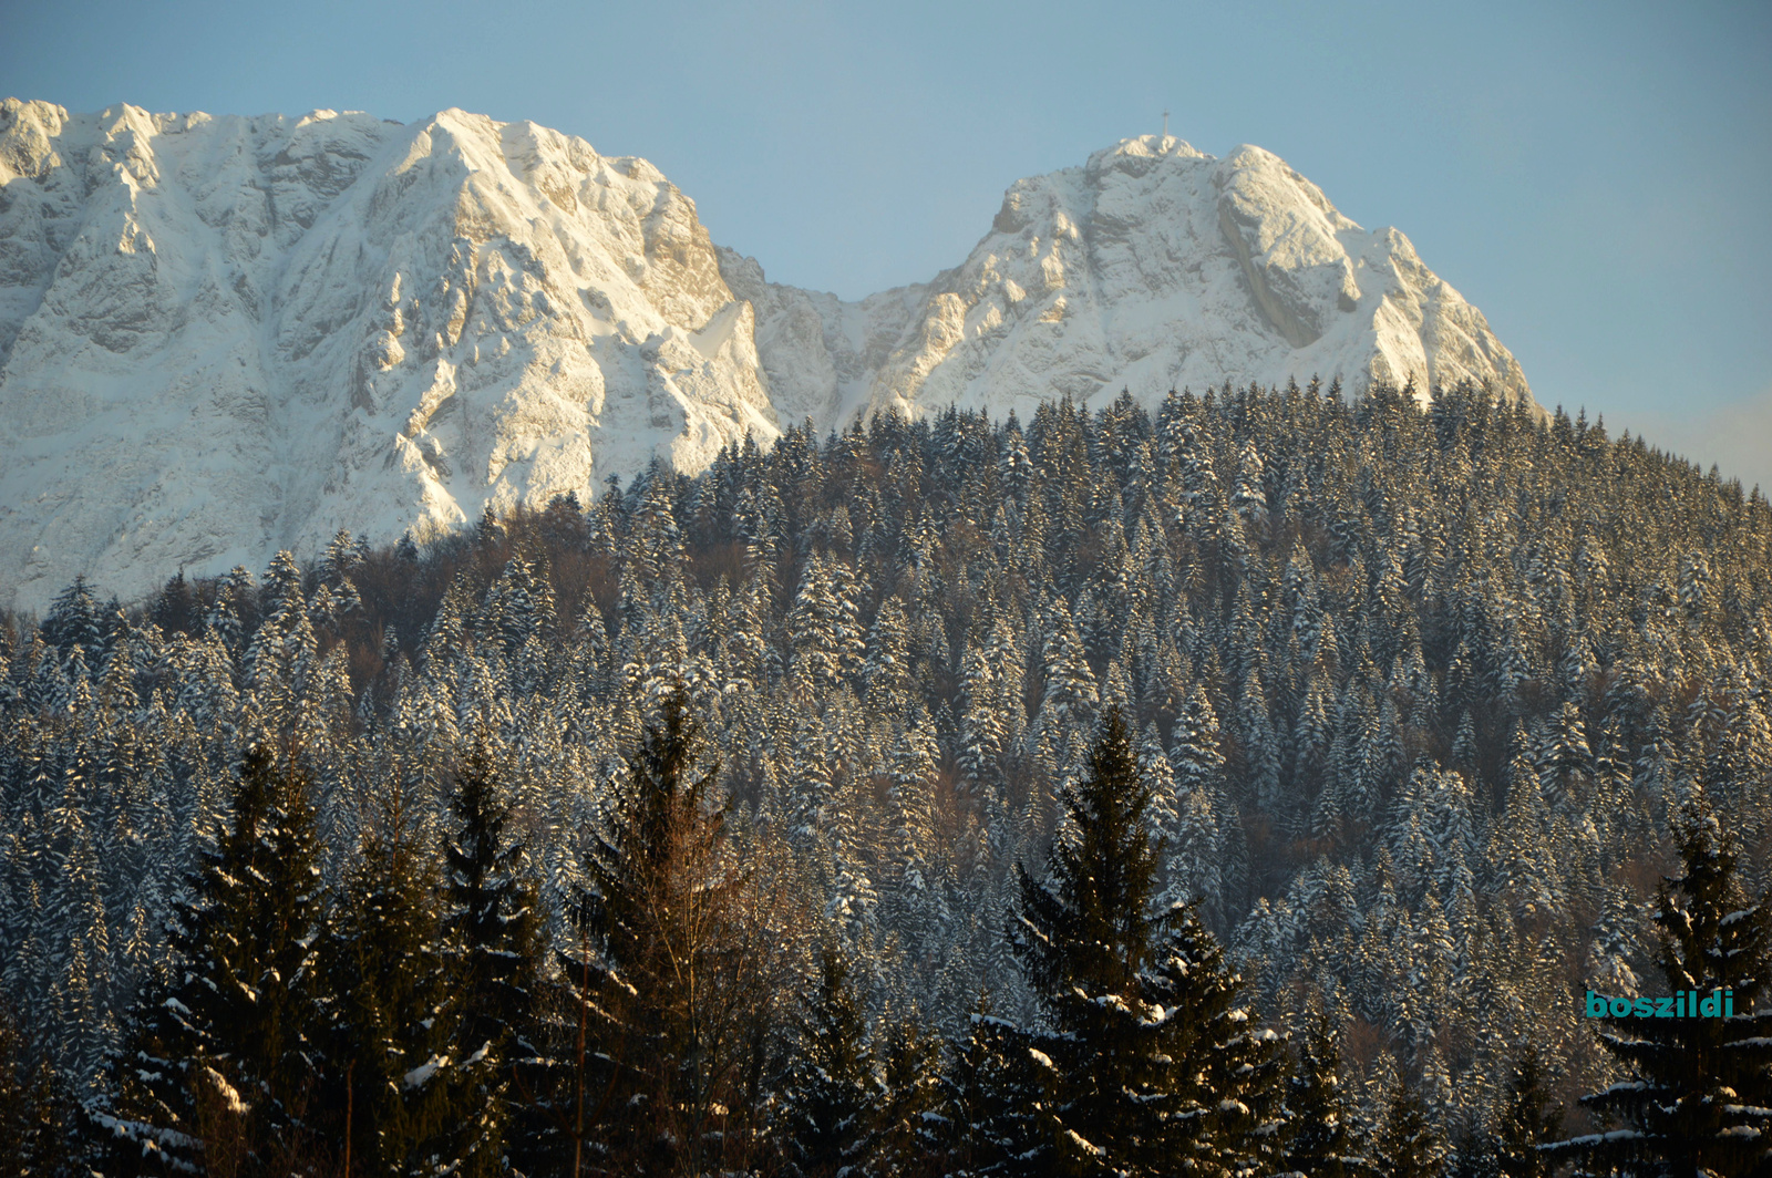
M1368 234L1258 147L1214 159L1143 136L1019 181L962 266L858 305L721 260L758 306L776 404L815 420L950 402L1026 415L1122 388L1154 404L1311 376L1352 391L1414 381L1423 400L1465 377L1531 397L1481 312L1407 237Z

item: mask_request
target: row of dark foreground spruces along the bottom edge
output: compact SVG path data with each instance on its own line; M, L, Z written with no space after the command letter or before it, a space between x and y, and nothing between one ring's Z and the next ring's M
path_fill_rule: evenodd
M1613 1019L1636 1081L1586 1102L1628 1128L1558 1139L1536 1049L1457 1150L1402 1086L1377 1125L1340 1084L1322 1010L1288 1045L1187 902L1157 903L1150 806L1118 709L1060 797L1044 877L1005 930L1037 1017L989 990L943 1040L870 1019L840 935L741 854L677 691L588 840L578 951L544 964L537 895L484 742L434 857L397 806L342 891L310 783L253 746L232 822L190 879L174 962L129 1011L97 1095L19 1072L0 1095L18 1174L1756 1174L1772 1162L1772 907L1745 903L1714 815L1682 824L1662 891L1669 987L1717 1020ZM1589 1171L1598 1166L1598 1171Z

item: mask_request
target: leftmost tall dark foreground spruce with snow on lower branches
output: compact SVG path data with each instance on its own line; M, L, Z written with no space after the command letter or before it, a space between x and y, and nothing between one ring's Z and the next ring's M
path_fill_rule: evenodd
M324 1160L319 1095L324 896L307 779L264 744L172 926L165 988L135 1004L92 1105L106 1174L299 1173Z

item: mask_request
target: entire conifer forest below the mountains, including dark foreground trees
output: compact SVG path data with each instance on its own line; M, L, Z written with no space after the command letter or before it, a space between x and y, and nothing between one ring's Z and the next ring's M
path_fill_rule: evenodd
M76 581L0 1171L1768 1174L1768 717L1758 489L1469 386Z

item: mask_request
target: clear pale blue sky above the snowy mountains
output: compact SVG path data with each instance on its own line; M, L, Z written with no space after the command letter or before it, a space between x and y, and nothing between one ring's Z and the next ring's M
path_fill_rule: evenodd
M656 163L845 298L964 260L1021 175L1258 143L1483 310L1538 399L1772 491L1772 4L0 0L0 94L399 120Z

